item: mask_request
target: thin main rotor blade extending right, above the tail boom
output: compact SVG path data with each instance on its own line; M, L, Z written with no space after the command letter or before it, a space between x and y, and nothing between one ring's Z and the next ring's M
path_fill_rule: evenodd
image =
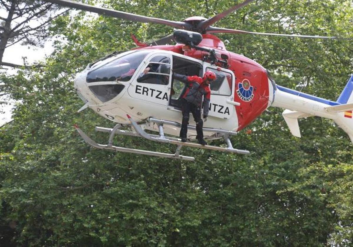
M298 38L325 38L325 39L342 39L342 40L351 40L353 38L343 38L343 37L335 37L335 36L313 36L313 35L297 35L297 34L273 34L267 32L249 32L243 30L236 29L226 29L226 28L215 28L210 26L206 29L206 33L228 33L228 34L256 34L256 35L268 35L268 36L282 36L282 37L298 37Z

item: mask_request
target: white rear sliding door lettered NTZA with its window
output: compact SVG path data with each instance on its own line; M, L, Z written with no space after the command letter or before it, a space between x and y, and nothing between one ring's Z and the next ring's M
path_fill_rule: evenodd
M235 113L234 73L225 68L215 68L209 65L205 65L204 72L206 71L212 71L216 74L216 80L210 83L211 100L208 115L222 119L232 118Z

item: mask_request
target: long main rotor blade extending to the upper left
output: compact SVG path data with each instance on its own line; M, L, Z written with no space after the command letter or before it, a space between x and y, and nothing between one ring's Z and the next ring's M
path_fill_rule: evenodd
M74 2L71 0L45 0L53 4L59 4L62 6L77 8L78 10L85 10L89 12L94 12L104 16L116 17L124 20L132 20L134 22L150 22L157 24L165 24L168 26L174 26L175 28L188 29L191 28L191 25L185 22L174 22L172 20L164 20L153 17L139 16L137 14L126 13L117 10L110 10L109 8L96 7L89 4L82 4L80 2Z

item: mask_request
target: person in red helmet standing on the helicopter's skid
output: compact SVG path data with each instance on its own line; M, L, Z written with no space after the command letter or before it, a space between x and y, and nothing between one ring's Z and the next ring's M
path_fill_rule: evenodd
M181 111L183 113L183 121L181 122L180 137L185 142L187 137L187 125L189 125L190 112L196 122L196 139L201 145L207 142L203 139L203 121L201 119L202 96L203 96L203 119L207 120L208 108L211 97L209 83L216 79L216 74L212 71L205 72L203 78L198 76L185 76L174 73L174 78L180 80L187 85L186 91L182 96Z

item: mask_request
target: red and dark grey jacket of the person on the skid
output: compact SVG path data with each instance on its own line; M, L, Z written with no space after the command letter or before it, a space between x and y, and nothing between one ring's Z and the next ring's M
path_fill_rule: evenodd
M211 98L211 90L209 85L204 84L202 78L198 76L185 76L182 74L174 73L174 78L187 85L185 93L183 96L181 96L187 102L193 103L201 108L202 96L204 96L203 115L207 116Z

